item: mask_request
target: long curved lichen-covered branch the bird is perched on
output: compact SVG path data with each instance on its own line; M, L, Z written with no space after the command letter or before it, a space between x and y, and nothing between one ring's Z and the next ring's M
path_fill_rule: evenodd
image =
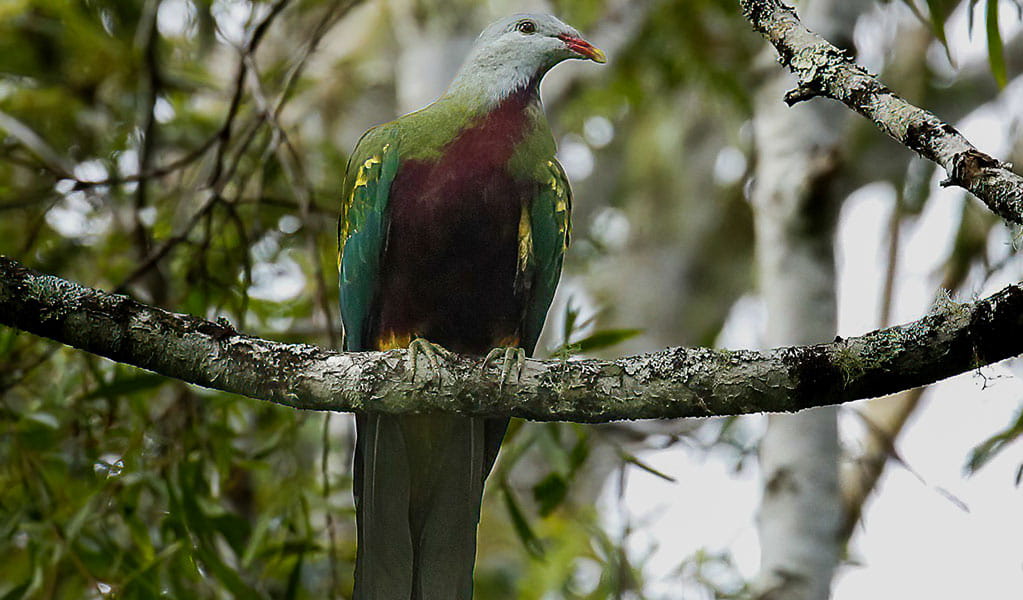
M798 411L932 383L1023 354L1023 285L831 343L529 360L519 380L503 387L498 368L477 357L442 360L435 380L413 382L405 351L337 353L251 337L225 321L164 311L6 257L0 257L0 324L295 408L595 423Z

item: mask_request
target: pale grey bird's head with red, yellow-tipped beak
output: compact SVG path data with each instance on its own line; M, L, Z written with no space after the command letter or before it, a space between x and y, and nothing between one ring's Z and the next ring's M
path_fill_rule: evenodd
M562 60L606 62L598 48L550 14L513 14L483 30L452 88L472 87L494 99L536 85Z

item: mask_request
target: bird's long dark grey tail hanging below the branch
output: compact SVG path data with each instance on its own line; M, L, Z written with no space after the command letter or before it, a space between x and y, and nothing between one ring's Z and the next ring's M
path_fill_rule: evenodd
M483 480L504 424L365 415L357 427L355 600L471 600Z

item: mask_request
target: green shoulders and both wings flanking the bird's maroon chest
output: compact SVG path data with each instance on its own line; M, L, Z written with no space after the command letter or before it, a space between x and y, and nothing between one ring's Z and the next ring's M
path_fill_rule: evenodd
M387 239L389 192L403 160L439 158L459 133L486 116L459 97L445 97L429 107L367 131L349 159L339 223L339 274L345 349L377 350L364 339L380 260ZM518 274L530 280L533 295L523 322L521 345L532 354L546 319L571 235L572 191L554 158L554 142L542 108L526 107L528 126L507 161L507 172L536 184L529 205L528 252ZM445 137L438 135L445 134ZM526 243L520 240L520 243Z

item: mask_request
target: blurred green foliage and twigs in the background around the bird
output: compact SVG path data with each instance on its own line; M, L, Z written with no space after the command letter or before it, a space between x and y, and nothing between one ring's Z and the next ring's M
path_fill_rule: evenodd
M942 43L962 4L928 2ZM744 186L763 42L730 0L552 5L608 42L612 60L560 67L551 79L561 83L544 88L579 235L563 285L572 301L551 311L542 343L565 360L712 344L753 287ZM1000 52L992 5L989 48ZM518 9L0 3L0 252L255 335L335 344L347 152L394 117L403 88L421 83L395 66L426 50L417 44L437 43L439 31L460 57L459 39ZM1000 83L1016 75L1007 56L1008 66L990 62ZM975 86L938 81L921 64L922 55L915 89L900 93L975 105ZM915 219L931 171L913 172L873 133L851 136L849 163L884 169L865 168L858 183L916 185L902 215ZM984 255L992 224L969 220L963 271ZM731 423L714 443L733 449L739 468L755 441ZM2 600L351 592L348 416L195 388L4 329L0 430ZM663 473L640 456L641 427L625 440L609 431L513 424L486 497L480 598L642 596L642 564L624 551L629 532L605 529L597 497L623 469ZM692 557L680 572L727 597L742 590L718 576L728 560Z

